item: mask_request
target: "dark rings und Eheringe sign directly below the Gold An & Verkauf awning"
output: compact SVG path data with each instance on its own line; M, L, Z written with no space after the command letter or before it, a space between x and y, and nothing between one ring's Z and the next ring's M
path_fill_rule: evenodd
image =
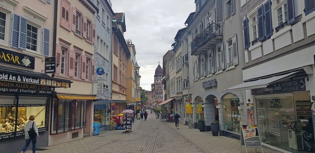
M52 94L49 86L0 81L0 93Z

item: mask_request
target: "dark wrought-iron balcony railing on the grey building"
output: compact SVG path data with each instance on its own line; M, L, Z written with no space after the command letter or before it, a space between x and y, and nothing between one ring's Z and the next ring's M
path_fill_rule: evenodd
M197 55L194 53L198 48L210 42L218 36L223 36L222 24L210 23L201 33L199 33L191 42L191 55ZM213 42L215 43L215 42Z

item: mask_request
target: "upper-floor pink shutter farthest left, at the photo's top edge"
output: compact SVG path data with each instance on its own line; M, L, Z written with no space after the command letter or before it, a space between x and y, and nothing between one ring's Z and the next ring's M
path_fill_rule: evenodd
M70 4L62 0L61 1L61 17L60 17L60 26L64 27L68 31L70 31Z

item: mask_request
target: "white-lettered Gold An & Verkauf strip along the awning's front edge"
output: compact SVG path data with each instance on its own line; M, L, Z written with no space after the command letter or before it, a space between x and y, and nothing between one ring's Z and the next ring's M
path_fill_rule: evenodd
M42 78L31 77L31 76L26 76L26 75L9 74L9 73L4 73L4 72L0 73L0 80L37 84L37 85L47 85L47 86L54 86L54 87L64 87L64 88L70 87L70 84L68 82L60 82L60 81L55 81L55 80L50 80L50 79L42 79Z

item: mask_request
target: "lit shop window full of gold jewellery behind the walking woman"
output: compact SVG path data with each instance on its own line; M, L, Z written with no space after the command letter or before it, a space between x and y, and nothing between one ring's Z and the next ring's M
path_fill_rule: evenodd
M13 96L0 96L0 133L24 131L24 126L29 122L31 115L35 116L38 128L46 126L46 97L20 96L18 105L16 105L16 101ZM24 132L19 132L17 136L23 134Z

